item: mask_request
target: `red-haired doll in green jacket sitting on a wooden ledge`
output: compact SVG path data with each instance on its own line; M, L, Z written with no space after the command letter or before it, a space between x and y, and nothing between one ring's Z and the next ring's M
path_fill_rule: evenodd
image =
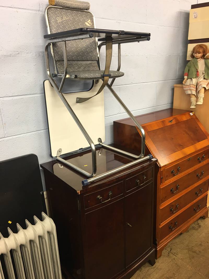
M191 61L184 70L183 88L190 94L191 106L202 105L205 88L209 89L209 49L206 45L195 45L191 52ZM196 97L198 100L196 102Z

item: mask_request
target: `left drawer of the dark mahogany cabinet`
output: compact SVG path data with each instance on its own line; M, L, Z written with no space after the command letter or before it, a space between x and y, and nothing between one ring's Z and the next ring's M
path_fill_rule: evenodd
M123 194L122 181L113 184L105 189L101 189L94 193L84 196L84 207L85 209L90 208L101 203L110 203L112 199Z

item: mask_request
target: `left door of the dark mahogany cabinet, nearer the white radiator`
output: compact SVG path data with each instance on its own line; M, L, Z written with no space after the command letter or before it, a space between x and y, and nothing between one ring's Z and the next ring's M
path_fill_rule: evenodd
M85 214L88 279L108 279L125 268L124 198Z

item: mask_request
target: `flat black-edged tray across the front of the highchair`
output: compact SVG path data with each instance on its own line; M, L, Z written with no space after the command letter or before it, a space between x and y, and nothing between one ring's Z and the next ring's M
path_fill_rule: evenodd
M105 41L106 34L112 34L113 40L133 39L133 38L136 39L136 38L145 38L150 36L150 33L142 33L142 32L106 30L106 29L96 29L96 28L77 28L73 30L44 35L43 37L44 39L53 40L53 39L61 39L61 38L64 39L66 37L71 37L71 36L73 37L76 35L84 35L84 34L88 35L86 36L86 38L88 37L101 38L98 39L98 41Z

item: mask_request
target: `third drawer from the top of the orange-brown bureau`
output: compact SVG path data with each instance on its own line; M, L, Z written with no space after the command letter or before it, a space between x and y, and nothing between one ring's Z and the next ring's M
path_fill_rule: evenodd
M166 221L171 216L176 215L176 213L184 208L189 203L193 202L198 196L201 196L205 192L208 191L208 182L207 179L203 183L199 184L195 188L191 189L189 192L185 193L183 196L179 197L178 199L175 199L175 201L172 201L165 207L163 207L160 210L161 214L161 223Z

